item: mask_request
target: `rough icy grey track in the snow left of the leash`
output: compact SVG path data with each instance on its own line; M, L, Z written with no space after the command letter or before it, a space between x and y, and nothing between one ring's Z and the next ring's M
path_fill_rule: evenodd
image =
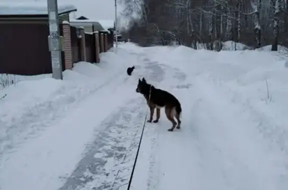
M128 183L145 115L143 104L140 99L130 100L104 119L59 190L118 190Z

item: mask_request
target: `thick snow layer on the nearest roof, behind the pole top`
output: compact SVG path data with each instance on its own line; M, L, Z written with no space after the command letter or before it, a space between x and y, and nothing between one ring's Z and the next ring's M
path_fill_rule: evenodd
M58 3L58 14L76 11L72 4ZM47 1L0 2L0 15L43 15L48 14Z

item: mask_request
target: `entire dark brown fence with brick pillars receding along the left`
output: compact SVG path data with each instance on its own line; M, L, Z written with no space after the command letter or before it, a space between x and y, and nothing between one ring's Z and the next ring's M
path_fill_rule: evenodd
M96 52L106 51L100 51L105 42L101 40L100 33L87 34L83 29L68 25L63 34L64 25L59 25L60 35L65 36L65 47L61 52L62 70L71 69L72 63L79 61L98 62ZM47 23L0 23L0 28L0 73L39 75L52 72ZM98 47L95 36L99 37ZM110 40L107 38L106 41ZM106 44L106 47L109 46Z

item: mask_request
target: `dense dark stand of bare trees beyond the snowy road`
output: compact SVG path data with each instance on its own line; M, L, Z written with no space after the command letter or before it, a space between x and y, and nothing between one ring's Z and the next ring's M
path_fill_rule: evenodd
M123 0L124 15L136 12L127 31L140 45L197 44L220 50L234 41L258 48L288 46L286 0ZM236 49L236 48L235 48Z

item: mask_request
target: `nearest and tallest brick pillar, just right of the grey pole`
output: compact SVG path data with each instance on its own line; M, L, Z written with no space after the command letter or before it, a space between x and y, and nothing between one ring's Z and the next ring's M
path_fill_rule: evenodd
M64 60L65 68L73 68L72 61L72 47L71 47L71 36L70 36L70 24L69 22L63 22L63 49L64 49Z

